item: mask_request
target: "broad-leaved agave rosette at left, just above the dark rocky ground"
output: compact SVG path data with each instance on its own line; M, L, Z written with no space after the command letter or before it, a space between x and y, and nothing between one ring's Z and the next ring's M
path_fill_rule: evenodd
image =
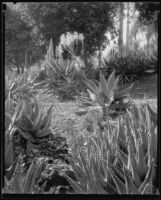
M51 133L50 123L52 116L52 105L46 110L39 109L37 101L33 98L33 103L25 100L20 101L12 118L12 130L18 127L22 136L30 142L35 141L35 137L44 137Z

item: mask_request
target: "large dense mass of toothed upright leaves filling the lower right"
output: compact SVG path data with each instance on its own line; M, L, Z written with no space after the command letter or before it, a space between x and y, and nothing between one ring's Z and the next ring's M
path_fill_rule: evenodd
M132 106L118 126L75 143L71 165L76 193L157 194L157 114L148 104ZM86 142L85 142L86 140Z

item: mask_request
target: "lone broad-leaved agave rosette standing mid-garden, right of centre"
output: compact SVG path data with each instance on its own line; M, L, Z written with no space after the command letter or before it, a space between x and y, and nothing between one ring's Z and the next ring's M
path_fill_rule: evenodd
M81 106L97 106L102 108L103 118L106 118L109 110L124 110L129 103L124 99L129 96L133 85L124 89L118 88L119 77L115 79L115 71L112 72L106 82L104 75L100 73L100 82L85 81L90 98L79 98Z

